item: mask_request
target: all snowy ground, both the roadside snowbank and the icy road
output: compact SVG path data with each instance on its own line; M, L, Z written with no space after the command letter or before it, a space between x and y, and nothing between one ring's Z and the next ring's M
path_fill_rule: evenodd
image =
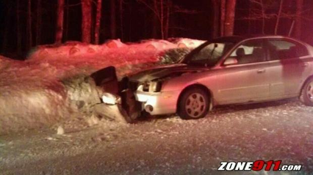
M176 49L185 47L182 43L193 47L201 41L112 41L101 46L69 42L41 46L26 61L0 56L0 172L312 174L313 108L296 99L218 107L205 118L188 121L163 116L121 124L90 115L90 103L98 99L87 75L115 65L122 77L170 62L185 53ZM36 129L26 130L31 128ZM217 171L221 161L258 159L303 168Z

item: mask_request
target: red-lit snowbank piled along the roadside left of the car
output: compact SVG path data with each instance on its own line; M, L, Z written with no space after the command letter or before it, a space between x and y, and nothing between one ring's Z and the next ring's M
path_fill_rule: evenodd
M34 48L26 61L0 56L0 134L86 115L79 113L77 106L81 102L97 103L97 91L92 84L84 82L84 77L98 69L116 66L121 78L155 64L171 62L169 54L182 56L176 52L177 48L192 48L201 43L182 38L126 44L111 40L102 45L67 42ZM65 86L63 82L68 80L78 85Z

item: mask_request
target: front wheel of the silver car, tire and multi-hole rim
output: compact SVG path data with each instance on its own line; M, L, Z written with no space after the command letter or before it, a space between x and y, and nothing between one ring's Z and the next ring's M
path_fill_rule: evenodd
M207 93L200 88L185 91L178 103L177 114L185 120L205 117L210 107Z

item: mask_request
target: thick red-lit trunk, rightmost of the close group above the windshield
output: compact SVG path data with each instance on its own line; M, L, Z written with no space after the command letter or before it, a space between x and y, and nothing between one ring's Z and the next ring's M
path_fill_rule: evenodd
M234 33L236 0L227 0L224 35L231 36Z

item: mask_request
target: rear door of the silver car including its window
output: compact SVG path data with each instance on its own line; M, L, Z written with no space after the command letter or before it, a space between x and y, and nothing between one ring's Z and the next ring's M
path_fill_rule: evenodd
M267 39L270 97L288 98L299 94L309 72L309 53L304 45L289 39Z

